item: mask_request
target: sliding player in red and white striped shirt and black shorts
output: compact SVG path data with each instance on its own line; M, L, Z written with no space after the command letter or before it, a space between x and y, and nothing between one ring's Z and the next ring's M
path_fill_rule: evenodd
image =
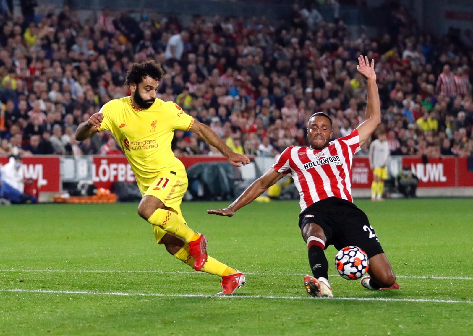
M259 197L285 174L290 173L300 195L299 227L307 243L313 276L304 285L313 296L333 296L328 281L328 262L324 250L358 246L369 258L368 274L361 279L370 290L397 289L393 269L369 224L368 217L356 207L351 196L353 155L371 137L380 123L379 95L375 62L359 56L359 73L368 82L366 120L348 136L330 142L332 120L323 113L312 115L307 124L309 147L286 148L272 168L254 181L230 206L209 210L208 214L233 216L235 211Z

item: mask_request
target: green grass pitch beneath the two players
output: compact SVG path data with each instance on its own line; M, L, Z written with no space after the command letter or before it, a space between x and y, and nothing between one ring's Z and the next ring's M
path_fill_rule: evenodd
M298 202L254 203L232 218L184 203L214 258L247 274L233 297L154 241L137 204L0 207L0 335L473 335L473 200L357 200L402 286L370 292L310 273Z

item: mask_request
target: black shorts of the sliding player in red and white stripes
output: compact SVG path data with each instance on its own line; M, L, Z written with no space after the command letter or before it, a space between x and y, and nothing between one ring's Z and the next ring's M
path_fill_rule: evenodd
M337 197L324 198L299 215L299 227L308 223L322 227L327 241L325 248L333 245L337 250L346 246L358 246L368 258L384 253L368 217L350 201Z

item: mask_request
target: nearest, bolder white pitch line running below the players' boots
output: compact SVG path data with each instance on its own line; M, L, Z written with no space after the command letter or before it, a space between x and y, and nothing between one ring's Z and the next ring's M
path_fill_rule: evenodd
M472 301L437 300L437 299L395 299L395 298L356 298L356 297L322 297L310 296L272 296L272 295L215 295L215 294L163 294L163 293L123 293L123 292L88 292L88 291L53 291L42 289L4 288L0 292L10 293L41 293L41 294L85 294L85 295L116 295L116 296L155 296L155 297L185 297L185 298L228 298L228 299L272 299L272 300L343 300L343 301L385 301L385 302L435 302L435 303L466 303Z

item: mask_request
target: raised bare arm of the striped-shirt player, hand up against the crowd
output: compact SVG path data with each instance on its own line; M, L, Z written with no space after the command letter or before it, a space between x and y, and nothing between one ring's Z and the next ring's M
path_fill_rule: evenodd
M371 60L370 65L368 57L360 55L358 63L357 70L366 78L368 85L368 103L366 104L365 121L357 127L359 145L363 146L381 123L381 106L379 104L378 86L376 84L375 60Z

